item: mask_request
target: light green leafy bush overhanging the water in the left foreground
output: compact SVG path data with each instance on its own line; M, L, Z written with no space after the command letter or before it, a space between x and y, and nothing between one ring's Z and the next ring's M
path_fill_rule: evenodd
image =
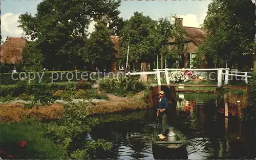
M65 105L65 108L61 120L58 123L47 124L46 130L48 132L47 137L65 146L71 158L89 159L94 156L94 152L99 147L104 150L112 148L112 143L105 140L87 140L83 148L71 149L74 145L74 139L91 130L92 125L98 121L90 117L86 103L69 103Z

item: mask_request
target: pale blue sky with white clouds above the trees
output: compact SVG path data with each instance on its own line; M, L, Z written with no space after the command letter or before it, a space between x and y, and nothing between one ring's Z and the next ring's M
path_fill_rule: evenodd
M18 28L17 20L20 14L26 12L34 15L41 0L4 0L1 1L1 32L2 41L7 36L21 37L23 30ZM184 26L199 27L207 13L207 7L211 1L123 1L119 7L120 17L129 19L134 12L142 12L154 20L162 17L169 17L170 14L177 14L183 18ZM93 32L94 25L90 24L89 32Z

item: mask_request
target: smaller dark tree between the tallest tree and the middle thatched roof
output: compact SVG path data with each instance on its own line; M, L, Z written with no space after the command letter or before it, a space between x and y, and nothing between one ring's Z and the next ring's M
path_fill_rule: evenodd
M97 22L95 31L90 35L87 54L83 58L97 64L100 70L110 62L113 56L113 44L110 40L111 31L104 22Z

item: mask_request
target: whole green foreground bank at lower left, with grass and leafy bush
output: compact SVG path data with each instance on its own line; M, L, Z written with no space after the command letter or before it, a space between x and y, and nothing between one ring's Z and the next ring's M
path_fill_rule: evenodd
M56 106L55 106L56 107ZM24 111L22 106L19 111ZM1 123L1 150L4 159L91 159L96 150L109 150L111 142L88 140L83 146L71 149L74 139L90 131L97 119L90 117L86 103L60 106L61 116L39 122L37 116L17 123ZM10 108L7 108L7 110ZM48 108L41 108L48 110ZM25 109L26 110L26 109ZM18 114L18 112L16 112ZM49 114L49 113L48 113Z

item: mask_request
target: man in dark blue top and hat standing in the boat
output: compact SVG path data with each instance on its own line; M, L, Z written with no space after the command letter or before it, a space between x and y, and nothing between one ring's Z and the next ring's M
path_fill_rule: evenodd
M168 109L168 99L164 97L164 92L159 92L159 101L158 101L158 108L157 108L157 117L159 118L161 125L161 134L158 135L160 139L166 138L165 131L166 131L166 123L167 123L167 109Z

